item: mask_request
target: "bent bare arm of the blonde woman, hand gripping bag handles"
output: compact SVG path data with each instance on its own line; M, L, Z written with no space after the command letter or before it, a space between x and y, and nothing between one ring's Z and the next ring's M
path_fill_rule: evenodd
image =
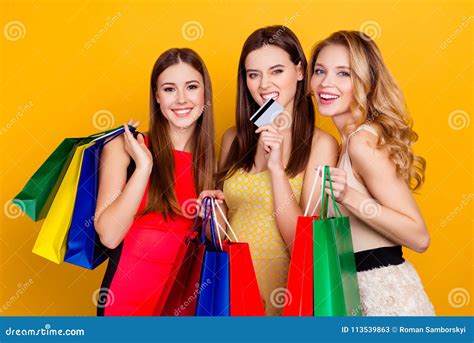
M348 187L343 170L332 169L336 201L391 241L424 252L430 237L423 217L387 151L375 147L376 140L375 135L361 131L348 147L353 171L375 201ZM328 187L326 192L330 192Z

